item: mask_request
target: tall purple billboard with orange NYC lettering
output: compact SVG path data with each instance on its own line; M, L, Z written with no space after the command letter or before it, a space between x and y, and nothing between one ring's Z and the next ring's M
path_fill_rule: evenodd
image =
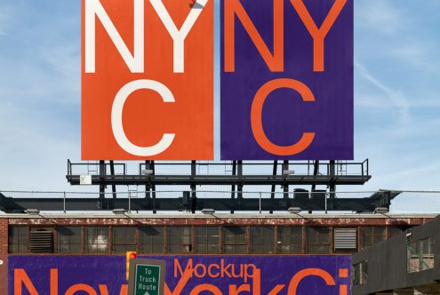
M222 0L221 159L353 159L353 0Z

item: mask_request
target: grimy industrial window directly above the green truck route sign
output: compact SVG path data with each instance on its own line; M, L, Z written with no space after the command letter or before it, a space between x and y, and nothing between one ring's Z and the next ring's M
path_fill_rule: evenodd
M164 253L164 227L140 227L139 240L141 253Z

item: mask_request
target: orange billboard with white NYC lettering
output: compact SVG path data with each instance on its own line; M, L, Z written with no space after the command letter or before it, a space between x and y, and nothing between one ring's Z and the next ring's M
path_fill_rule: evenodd
M212 0L82 1L82 158L212 159Z

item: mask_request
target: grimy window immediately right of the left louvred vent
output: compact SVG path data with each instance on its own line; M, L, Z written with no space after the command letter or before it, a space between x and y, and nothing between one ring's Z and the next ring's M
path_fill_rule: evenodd
M59 253L83 252L81 229L81 227L57 227Z

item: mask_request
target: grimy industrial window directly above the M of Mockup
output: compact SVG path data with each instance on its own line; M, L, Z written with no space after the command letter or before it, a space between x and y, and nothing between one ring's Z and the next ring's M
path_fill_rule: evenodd
M167 227L168 253L192 253L191 227Z

